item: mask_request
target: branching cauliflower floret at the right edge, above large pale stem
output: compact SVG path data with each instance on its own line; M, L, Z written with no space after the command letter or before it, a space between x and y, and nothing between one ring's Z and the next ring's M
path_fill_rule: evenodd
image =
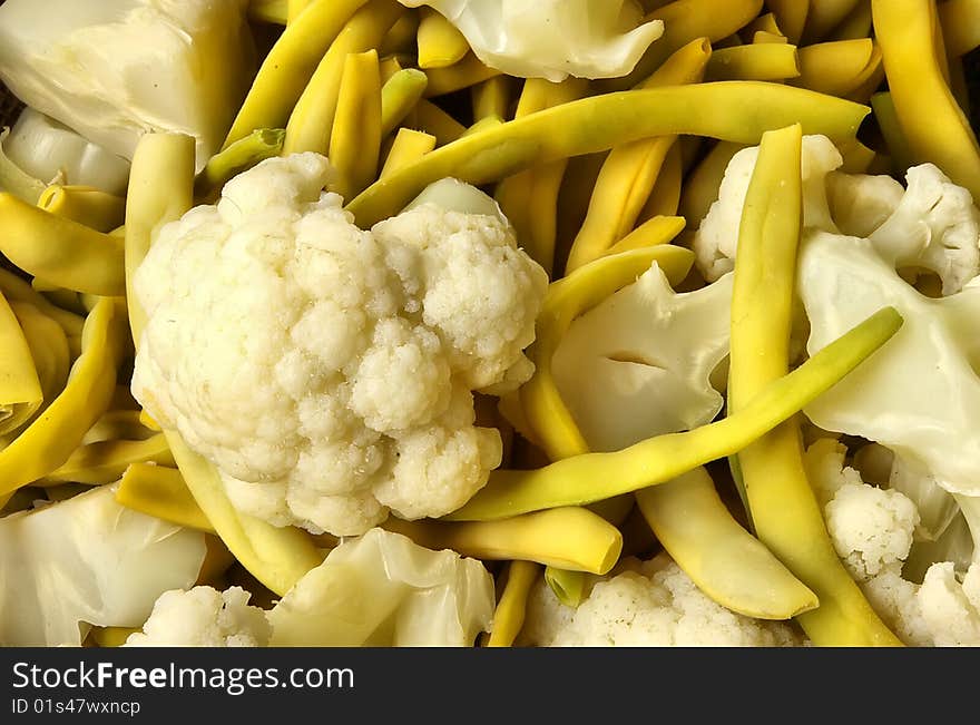
M968 189L932 164L905 174L906 189L894 212L869 235L895 268L922 267L951 295L980 273L980 210Z

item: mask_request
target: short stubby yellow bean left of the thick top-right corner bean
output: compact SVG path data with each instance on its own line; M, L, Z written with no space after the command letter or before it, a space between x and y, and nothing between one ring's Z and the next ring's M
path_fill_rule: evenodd
M871 38L831 40L800 49L800 77L790 81L831 96L846 96L881 62Z

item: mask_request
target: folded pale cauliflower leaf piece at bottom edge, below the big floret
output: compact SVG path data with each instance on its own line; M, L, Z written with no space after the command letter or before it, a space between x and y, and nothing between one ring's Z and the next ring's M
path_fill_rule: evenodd
M331 551L268 613L270 646L469 647L493 606L480 561L374 528Z

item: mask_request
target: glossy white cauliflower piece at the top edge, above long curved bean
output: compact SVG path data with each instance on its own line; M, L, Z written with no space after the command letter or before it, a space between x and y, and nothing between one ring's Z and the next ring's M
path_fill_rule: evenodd
M522 78L618 78L664 33L635 0L400 0L445 16L487 66Z

